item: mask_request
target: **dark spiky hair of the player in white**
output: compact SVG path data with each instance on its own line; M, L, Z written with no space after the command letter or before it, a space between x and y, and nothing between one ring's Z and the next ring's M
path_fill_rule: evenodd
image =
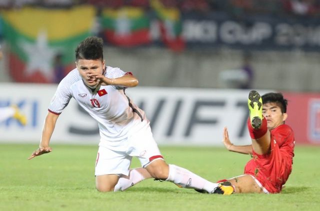
M82 40L75 49L75 60L103 59L103 41L100 37L89 36Z

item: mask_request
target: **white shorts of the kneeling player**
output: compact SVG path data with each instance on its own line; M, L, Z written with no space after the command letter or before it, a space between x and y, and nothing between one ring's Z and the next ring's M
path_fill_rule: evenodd
M118 148L99 144L94 175L127 176L132 157L137 157L142 167L156 159L163 159L149 126L128 137Z

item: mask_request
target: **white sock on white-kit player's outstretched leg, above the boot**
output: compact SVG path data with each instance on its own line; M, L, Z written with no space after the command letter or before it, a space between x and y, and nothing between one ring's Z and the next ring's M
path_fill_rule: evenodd
M213 193L214 189L218 186L217 183L211 183L186 169L172 164L169 164L169 176L166 181L172 182L182 188L205 190L208 193Z

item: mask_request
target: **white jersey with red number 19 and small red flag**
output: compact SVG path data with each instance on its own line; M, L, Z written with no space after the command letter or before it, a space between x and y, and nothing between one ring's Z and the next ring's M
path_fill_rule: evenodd
M119 68L107 66L104 75L118 78L124 74ZM111 85L92 90L84 84L75 68L59 83L48 110L60 114L73 97L98 122L102 145L116 147L130 134L149 124L144 112L132 103L124 90Z

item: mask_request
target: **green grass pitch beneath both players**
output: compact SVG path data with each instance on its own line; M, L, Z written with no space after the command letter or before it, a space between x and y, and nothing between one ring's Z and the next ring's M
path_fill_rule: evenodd
M1 211L293 211L320 207L320 147L297 146L282 193L199 194L168 182L145 180L125 192L99 193L94 185L96 146L52 145L33 160L36 145L0 144ZM209 181L238 176L250 158L213 147L160 147L167 163ZM132 167L139 167L133 159Z

